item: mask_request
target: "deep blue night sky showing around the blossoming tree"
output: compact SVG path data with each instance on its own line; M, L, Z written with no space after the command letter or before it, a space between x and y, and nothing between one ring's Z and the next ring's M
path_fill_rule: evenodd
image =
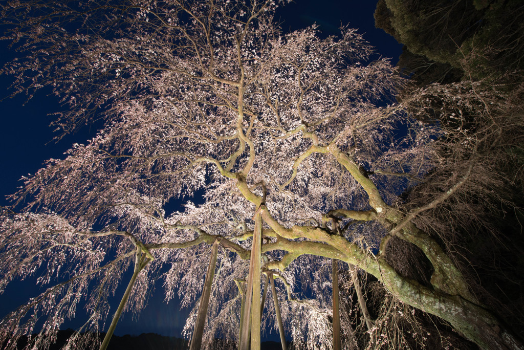
M342 4L342 5L341 5ZM277 12L276 18L282 23L285 31L289 29L300 29L316 23L320 30L327 35L336 35L340 25L350 24L358 28L377 50L377 58L380 56L392 59L393 63L398 61L402 46L395 39L387 35L383 30L376 29L373 13L376 2L370 0L298 0L296 3L287 5ZM6 45L0 42L0 64L15 57L14 52L9 52ZM94 136L96 130L87 125L74 135L55 143L52 128L48 125L52 121L49 113L60 111L58 99L54 96L37 94L34 99L26 102L26 96L16 96L13 99L4 99L9 95L8 87L10 78L0 76L0 205L6 205L8 201L4 195L16 191L20 185L18 179L34 173L43 161L49 158L62 158L63 152L72 143L83 143L90 136ZM131 272L127 274L130 277ZM124 276L123 281L129 277ZM127 283L124 283L127 285ZM117 297L113 298L116 306L119 302L125 286L117 290ZM20 303L26 301L32 293L35 293L35 283L32 279L15 282L8 287L6 292L0 295L0 317L12 311ZM162 304L161 282L156 283L156 291L149 300L149 306L139 315L138 322L133 320L132 315L123 315L116 327L115 334L140 334L154 332L163 335L180 336L181 328L185 322L187 311L180 311L177 302L171 301L169 305ZM115 309L112 309L113 311ZM112 312L113 312L112 311ZM79 320L73 320L64 324L64 328L78 327L84 321L80 313ZM274 340L275 333L270 336Z

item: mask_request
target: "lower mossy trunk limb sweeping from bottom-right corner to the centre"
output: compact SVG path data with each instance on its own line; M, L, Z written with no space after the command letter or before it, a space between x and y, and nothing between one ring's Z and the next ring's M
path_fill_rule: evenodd
M449 322L464 337L479 347L490 349L524 349L521 338L511 332L503 321L482 305L474 303L460 295L453 295L436 288L425 287L417 281L402 277L381 256L372 256L357 245L347 242L344 237L328 235L314 226L294 226L281 228L274 225L271 217L264 220L282 238L304 236L321 242L293 242L288 239L271 243L271 249L283 249L288 253L280 261L270 261L268 269L285 270L294 259L303 254L313 254L326 258L336 258L347 264L356 265L384 283L386 289L402 302L414 308L428 312ZM266 249L269 247L266 246Z

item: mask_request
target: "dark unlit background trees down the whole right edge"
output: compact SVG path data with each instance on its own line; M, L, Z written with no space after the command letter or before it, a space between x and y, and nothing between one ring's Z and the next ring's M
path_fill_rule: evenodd
M512 19L519 17L523 9L520 2L512 1L400 3L386 0L378 2L375 19L377 26L405 43L398 66L411 76L413 84L428 87L434 82L474 81L468 89L471 93L482 93L485 90L481 86L491 82L492 91L506 94L501 101L508 98L508 101L515 102L522 98L520 58L524 47L518 39L522 32L521 23ZM440 16L444 13L445 16ZM509 91L512 93L507 94ZM409 98L410 93L410 89L406 89L397 98ZM446 104L440 95L430 97L430 100L425 115L419 114L421 120L428 121L431 116L476 137L482 116L471 110L454 111L453 104ZM455 115L459 114L462 117L456 119ZM492 135L507 138L507 142L492 140L478 151L493 156L489 165L496 173L493 179L503 182L503 187L498 189L505 190L494 190L498 193L495 197L485 193L470 199L470 210L475 208L476 213L483 213L482 216L470 215L463 211L464 208L447 203L435 212L431 225L439 222L452 227L445 230L448 232L447 245L455 247L455 256L462 260L463 266L475 267L475 272L470 270L467 273L474 281L471 285L475 286L475 293L490 308L500 310L499 313L513 320L516 329L521 329L524 301L519 286L524 281L524 270L522 255L515 252L524 248L523 217L519 209L524 205L524 158L520 141L514 143L513 136L520 137L522 119L521 112L512 108L492 109L488 117L494 115L507 128L500 128L501 124L492 125L489 127ZM419 189L421 192L418 189L410 191L409 201L418 201L415 193L428 190L425 185ZM426 215L426 219L429 216Z

